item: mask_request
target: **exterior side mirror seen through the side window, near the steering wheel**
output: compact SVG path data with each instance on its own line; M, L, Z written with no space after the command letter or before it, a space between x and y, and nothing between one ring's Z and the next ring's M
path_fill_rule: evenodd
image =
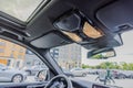
M40 70L37 74L37 76L34 77L34 79L37 81L43 81L43 80L45 80L47 76L48 76L48 69L42 69L42 70Z

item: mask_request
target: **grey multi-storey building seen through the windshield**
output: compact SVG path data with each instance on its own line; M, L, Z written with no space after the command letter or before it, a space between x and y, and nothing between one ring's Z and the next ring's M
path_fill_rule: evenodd
M60 64L61 67L71 69L81 67L81 46L78 44L69 44L52 48L51 55Z

